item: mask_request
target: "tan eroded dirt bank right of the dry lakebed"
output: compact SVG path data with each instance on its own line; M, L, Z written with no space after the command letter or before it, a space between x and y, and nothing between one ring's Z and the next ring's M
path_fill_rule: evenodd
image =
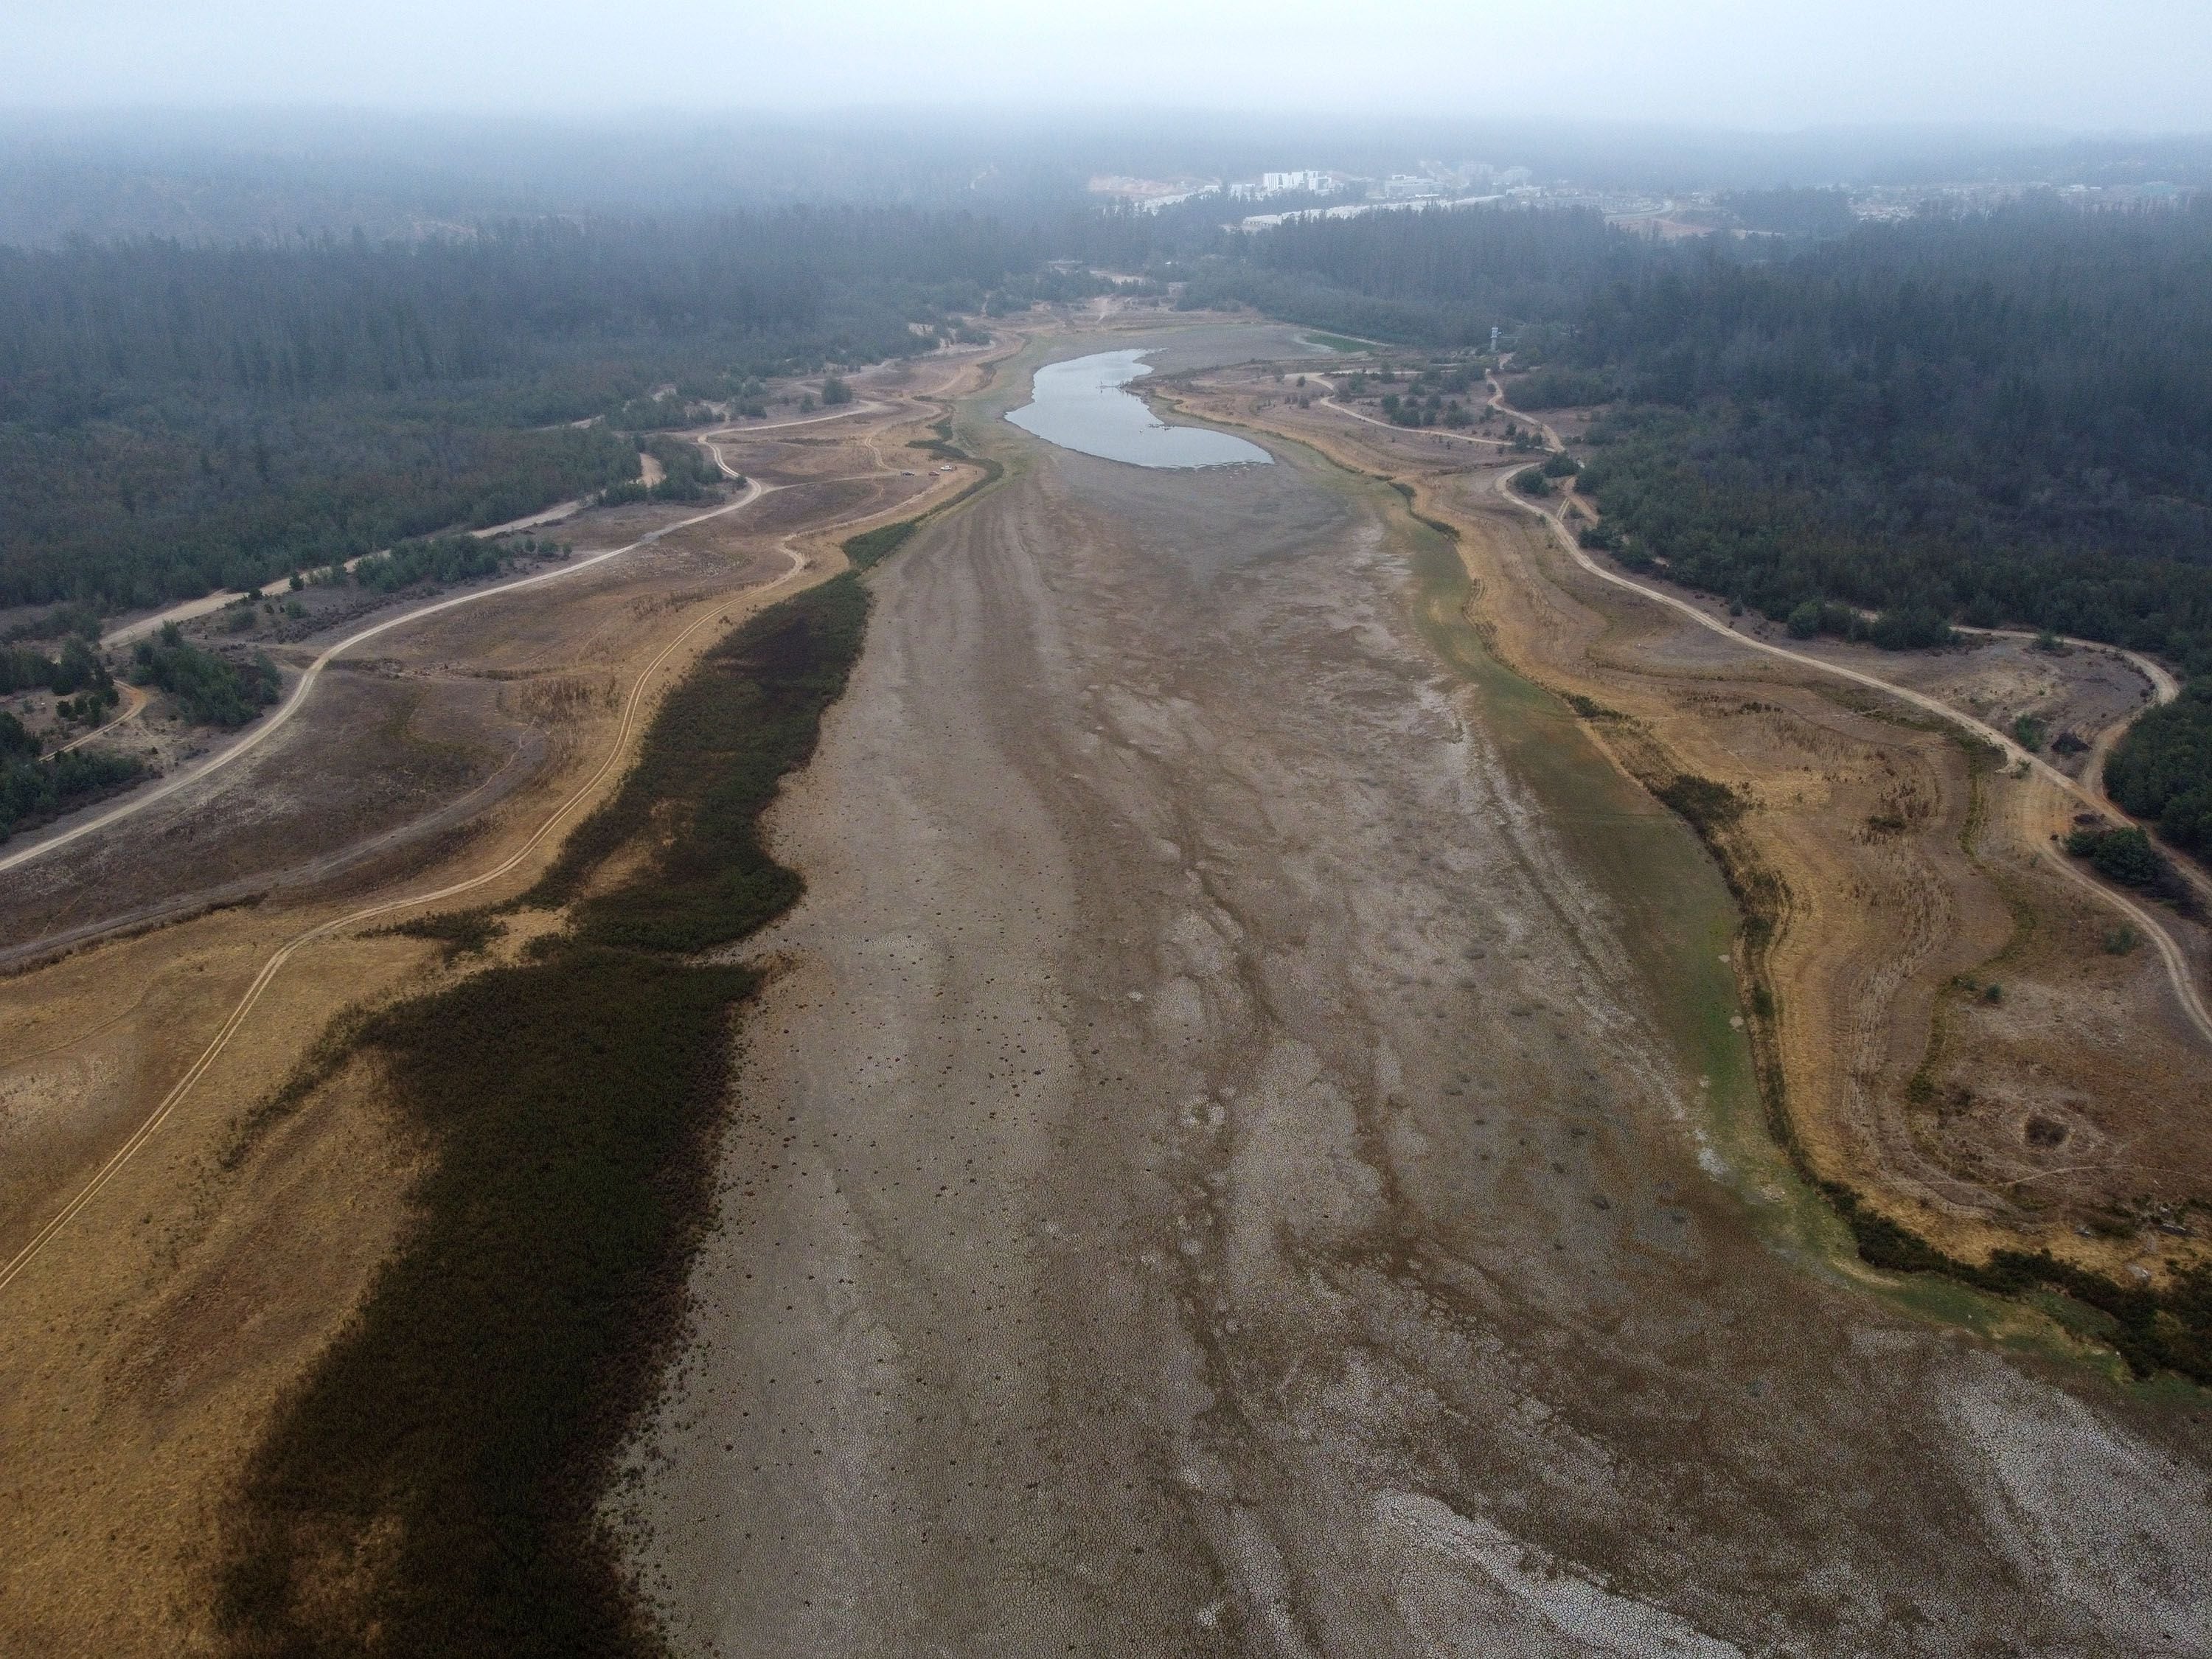
M2170 967L2203 998L2208 940L2157 911L2181 949L2168 964L2059 867L2051 838L2086 805L2059 779L2011 776L1936 712L1736 644L1756 624L1694 595L1721 633L1599 582L1455 438L1301 409L1272 374L1214 376L1192 407L1402 480L1460 533L1506 659L1582 699L1590 737L1652 790L1690 774L1734 792L1708 834L1754 916L1741 967L1776 1130L1812 1175L1966 1259L2051 1248L2163 1283L2205 1256L2205 1048ZM2097 650L1781 644L2006 737L2022 714L2075 732L2077 761L2148 697Z

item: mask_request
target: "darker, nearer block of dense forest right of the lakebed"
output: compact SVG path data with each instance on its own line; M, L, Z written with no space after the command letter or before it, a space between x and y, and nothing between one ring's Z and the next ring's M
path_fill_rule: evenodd
M1785 615L1834 597L2212 666L2212 215L2020 210L1608 285L1593 489Z

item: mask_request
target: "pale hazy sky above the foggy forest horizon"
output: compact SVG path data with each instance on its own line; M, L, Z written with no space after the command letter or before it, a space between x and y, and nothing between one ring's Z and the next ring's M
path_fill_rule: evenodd
M2212 0L11 0L0 106L2212 126Z

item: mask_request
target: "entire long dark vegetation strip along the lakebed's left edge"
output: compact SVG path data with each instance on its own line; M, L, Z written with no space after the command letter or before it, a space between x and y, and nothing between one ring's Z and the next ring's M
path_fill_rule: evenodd
M234 1652L659 1652L593 1504L681 1329L754 987L688 953L799 898L759 814L814 752L865 619L843 575L737 628L533 902L650 838L637 874L535 960L345 1033L383 1064L431 1172L407 1245L246 1478L219 1568ZM469 945L489 918L418 931Z

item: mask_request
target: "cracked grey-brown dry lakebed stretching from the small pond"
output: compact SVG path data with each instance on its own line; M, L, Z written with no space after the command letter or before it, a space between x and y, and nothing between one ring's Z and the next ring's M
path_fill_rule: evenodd
M1714 878L1440 666L1394 495L973 440L776 812L626 1500L684 1650L2212 1652L2166 1420L1701 1168Z

